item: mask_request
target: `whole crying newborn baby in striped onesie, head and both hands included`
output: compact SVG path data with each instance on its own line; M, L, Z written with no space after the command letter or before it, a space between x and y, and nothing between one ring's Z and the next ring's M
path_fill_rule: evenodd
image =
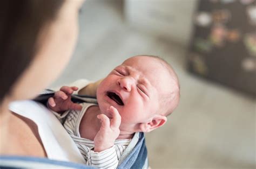
M129 58L100 82L97 104L73 103L77 87L64 86L49 98L51 110L88 165L116 168L135 133L164 125L179 103L179 82L166 61L150 55ZM83 88L79 94L84 94Z

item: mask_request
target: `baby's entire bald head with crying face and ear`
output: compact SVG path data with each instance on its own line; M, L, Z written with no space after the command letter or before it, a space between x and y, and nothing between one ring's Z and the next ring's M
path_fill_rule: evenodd
M120 130L150 132L166 121L179 103L179 82L172 67L150 55L129 58L100 83L99 108L113 105L122 117Z

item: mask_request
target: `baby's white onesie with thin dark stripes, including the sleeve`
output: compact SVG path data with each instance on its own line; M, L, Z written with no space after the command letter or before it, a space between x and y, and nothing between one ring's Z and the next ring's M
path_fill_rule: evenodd
M92 140L81 138L79 133L79 125L87 108L91 107L92 103L80 103L82 110L68 110L62 115L53 112L62 121L64 128L68 131L71 138L76 143L80 153L84 157L86 164L98 168L116 168L118 161L131 142L131 139L115 140L114 145L102 152L94 152L94 143Z

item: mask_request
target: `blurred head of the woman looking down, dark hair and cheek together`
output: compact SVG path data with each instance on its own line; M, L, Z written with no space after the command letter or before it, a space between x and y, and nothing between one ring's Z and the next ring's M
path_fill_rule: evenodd
M67 64L81 1L0 1L0 102L31 98Z

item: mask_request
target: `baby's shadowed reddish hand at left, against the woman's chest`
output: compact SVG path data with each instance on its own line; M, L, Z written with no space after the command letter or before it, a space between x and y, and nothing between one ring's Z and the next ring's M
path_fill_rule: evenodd
M48 99L48 106L51 110L62 112L66 110L81 110L82 105L71 101L71 94L78 90L77 87L63 86L59 91L56 91L53 97Z

